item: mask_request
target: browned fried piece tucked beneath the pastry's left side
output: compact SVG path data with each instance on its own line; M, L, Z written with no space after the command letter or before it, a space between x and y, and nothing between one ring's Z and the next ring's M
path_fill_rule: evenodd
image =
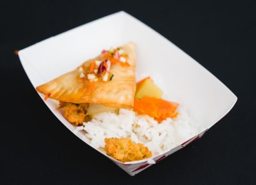
M67 121L75 124L76 126L81 125L83 122L89 121L87 114L88 103L67 103L60 101L60 108L63 108L63 115Z

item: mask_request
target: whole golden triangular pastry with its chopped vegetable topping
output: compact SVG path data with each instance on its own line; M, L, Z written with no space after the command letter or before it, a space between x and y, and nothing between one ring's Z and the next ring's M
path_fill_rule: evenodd
M58 101L132 107L135 93L135 46L103 50L76 70L36 87Z

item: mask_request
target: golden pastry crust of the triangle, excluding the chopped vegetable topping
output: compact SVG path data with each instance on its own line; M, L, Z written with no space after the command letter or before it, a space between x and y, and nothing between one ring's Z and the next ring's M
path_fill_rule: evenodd
M95 60L102 61L102 56L83 63L76 70L61 75L46 84L36 87L36 91L49 94L49 98L72 103L98 103L108 107L131 108L135 94L135 46L133 43L124 45L130 64L111 64L114 77L109 82L98 80L90 82L79 78L79 68L89 71L90 64Z

